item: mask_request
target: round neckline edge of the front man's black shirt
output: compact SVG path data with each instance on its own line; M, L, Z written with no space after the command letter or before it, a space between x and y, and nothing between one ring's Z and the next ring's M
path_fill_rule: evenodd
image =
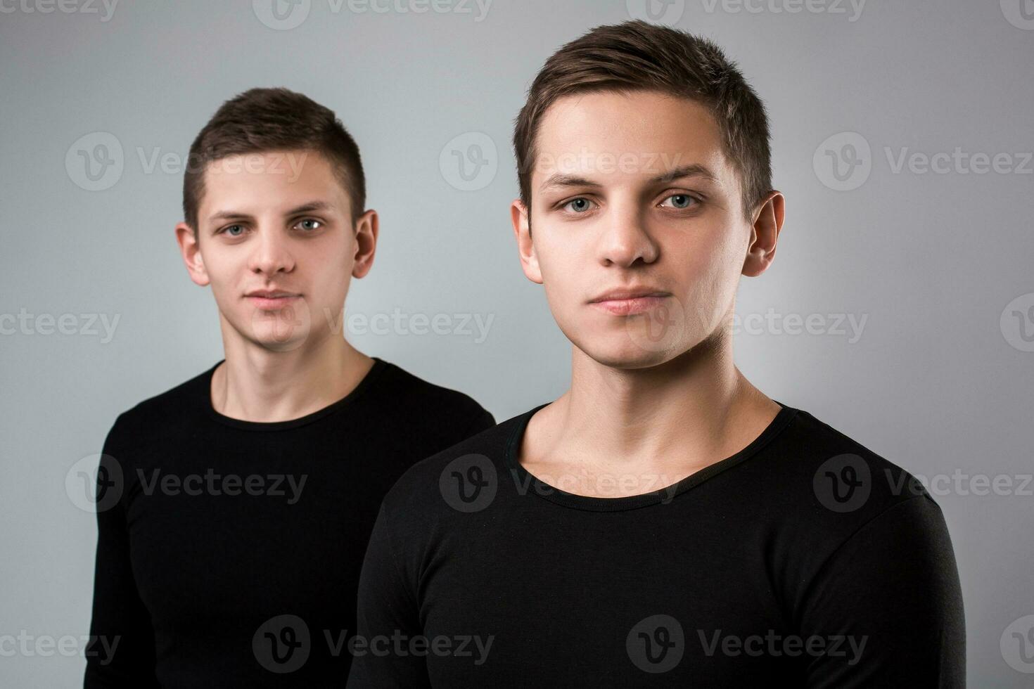
M766 445L772 438L774 438L783 429L785 429L790 421L797 415L798 409L787 406L780 402L779 400L772 400L781 408L776 413L774 418L769 421L768 426L752 440L746 447L743 447L738 452L731 455L724 460L719 460L714 464L704 467L700 471L694 472L689 476L675 481L669 486L658 489L656 491L650 491L648 493L640 493L637 495L622 496L618 498L599 498L595 496L578 495L575 493L568 493L556 487L550 486L544 480L536 477L531 472L525 469L520 462L517 461L519 457L519 450L521 442L524 440L524 431L527 428L528 421L531 416L535 415L537 411L546 407L551 402L541 404L538 407L525 412L517 420L514 430L510 434L510 438L507 441L506 446L506 463L509 469L513 473L514 478L518 481L518 486L531 486L535 481L539 486L543 487L544 490L531 491L540 498L548 500L550 502L556 503L558 505L564 505L566 507L573 507L576 509L584 509L590 511L602 511L602 512L612 512L621 511L626 509L637 509L640 507L648 507L650 505L661 504L666 500L674 499L676 496L686 493L691 488L699 486L703 481L707 480L711 476L729 469L740 462L743 462L752 455L760 450L764 445Z

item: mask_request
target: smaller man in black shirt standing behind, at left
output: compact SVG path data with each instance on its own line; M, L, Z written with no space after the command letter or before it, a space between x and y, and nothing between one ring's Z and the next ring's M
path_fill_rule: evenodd
M190 161L176 234L225 358L108 435L90 633L118 646L88 654L85 686L340 686L381 498L494 419L343 338L377 216L331 111L252 89Z

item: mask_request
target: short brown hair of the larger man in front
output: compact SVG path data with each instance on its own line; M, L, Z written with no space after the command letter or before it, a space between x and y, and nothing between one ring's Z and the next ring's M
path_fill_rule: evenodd
M528 89L514 127L520 198L530 208L535 138L549 106L579 93L662 91L709 108L739 173L743 214L771 191L764 104L735 63L706 38L643 21L596 27L553 53Z

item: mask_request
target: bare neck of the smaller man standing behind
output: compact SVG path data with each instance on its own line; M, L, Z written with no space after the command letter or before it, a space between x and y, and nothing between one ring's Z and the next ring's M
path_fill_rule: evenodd
M313 333L296 349L275 351L224 323L223 347L226 361L212 375L212 406L248 421L283 421L318 411L348 395L373 366L332 332Z

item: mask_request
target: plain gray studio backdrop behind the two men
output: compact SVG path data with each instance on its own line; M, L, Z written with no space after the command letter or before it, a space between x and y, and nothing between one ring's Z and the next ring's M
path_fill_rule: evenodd
M495 0L479 21L459 0L424 13L398 9L419 0L392 0L387 12L311 0L283 29L263 23L262 0L123 0L110 15L66 1L0 3L0 314L34 318L0 336L0 644L88 633L95 518L66 476L100 451L120 411L222 355L214 301L187 278L173 226L182 161L224 99L286 86L337 112L382 217L376 262L353 283L347 313L493 318L481 342L460 332L349 339L503 420L562 393L570 366L512 239L513 119L552 51L641 11L634 0ZM771 269L743 279L737 313L771 309L776 324L736 337L738 366L770 397L913 473L964 477L935 498L957 554L974 687L1034 683L1034 663L1017 663L1006 633L1034 615L1034 497L1032 486L1016 490L1034 446L1034 343L1024 337L1034 330L1034 163L1022 155L1034 150L1034 19L1021 2L1034 15L1031 0L870 0L860 14L833 0L750 6L761 11L687 0L659 19L726 48L772 121L788 217ZM75 161L102 142L97 132L122 147L122 169L90 190ZM479 188L461 190L439 158L477 132L496 151ZM830 155L847 164L847 144L861 164L842 167L854 171L841 182ZM986 174L966 161L895 170L906 149L956 147L1009 162ZM165 169L149 166L166 153ZM66 332L48 334L48 315L62 314L73 315ZM114 336L87 327L90 314L118 317ZM793 314L824 324L789 334ZM837 314L866 318L860 337L833 327ZM979 475L1013 489L975 495L966 477ZM10 643L0 645L3 686L80 684L80 655L31 645L10 655Z

